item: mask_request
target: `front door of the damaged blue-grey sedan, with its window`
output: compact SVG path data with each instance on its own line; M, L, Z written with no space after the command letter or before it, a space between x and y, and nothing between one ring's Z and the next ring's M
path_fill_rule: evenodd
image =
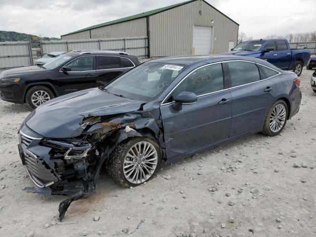
M174 98L182 91L194 92L198 98L177 111ZM160 106L167 158L228 138L231 100L221 63L202 66L186 76Z

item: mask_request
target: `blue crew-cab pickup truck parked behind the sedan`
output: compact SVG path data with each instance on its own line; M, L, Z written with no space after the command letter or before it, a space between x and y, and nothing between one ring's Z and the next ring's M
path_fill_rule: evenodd
M287 40L248 40L239 43L231 52L223 53L260 58L283 70L293 70L300 76L310 60L309 49L291 49Z

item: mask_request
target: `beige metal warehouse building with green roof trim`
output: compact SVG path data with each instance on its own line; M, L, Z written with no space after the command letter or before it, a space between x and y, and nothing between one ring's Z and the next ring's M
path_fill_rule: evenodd
M62 40L147 37L148 56L216 54L237 44L238 23L204 0L190 0L61 36Z

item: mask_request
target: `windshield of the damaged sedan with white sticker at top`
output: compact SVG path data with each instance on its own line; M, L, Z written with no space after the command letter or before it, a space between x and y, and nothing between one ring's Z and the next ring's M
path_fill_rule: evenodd
M152 101L183 71L185 65L147 62L128 71L105 87L121 97Z

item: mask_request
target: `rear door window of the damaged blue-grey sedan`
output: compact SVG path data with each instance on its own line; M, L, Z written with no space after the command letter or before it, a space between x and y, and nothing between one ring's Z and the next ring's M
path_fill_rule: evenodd
M260 80L259 69L254 63L229 62L227 64L231 73L232 87Z

